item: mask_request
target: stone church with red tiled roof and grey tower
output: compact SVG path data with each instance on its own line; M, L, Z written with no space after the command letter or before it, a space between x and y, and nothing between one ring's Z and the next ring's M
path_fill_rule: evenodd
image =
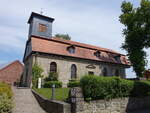
M52 37L53 18L32 13L29 18L29 37L23 62L23 83L31 85L32 66L36 62L48 76L57 72L58 79L66 86L71 79L85 74L126 77L130 67L126 56L110 49ZM92 40L92 38L91 38Z

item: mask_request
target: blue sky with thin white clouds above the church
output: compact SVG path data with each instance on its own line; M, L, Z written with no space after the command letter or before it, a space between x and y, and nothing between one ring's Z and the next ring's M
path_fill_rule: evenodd
M28 38L27 20L31 12L55 18L53 35L68 33L72 40L120 49L124 41L123 25L119 22L123 0L3 0L0 4L0 66L19 59L22 61ZM135 6L139 0L127 0ZM148 54L150 55L149 50ZM148 56L150 59L150 57ZM150 68L150 61L147 68ZM134 77L132 69L128 77Z

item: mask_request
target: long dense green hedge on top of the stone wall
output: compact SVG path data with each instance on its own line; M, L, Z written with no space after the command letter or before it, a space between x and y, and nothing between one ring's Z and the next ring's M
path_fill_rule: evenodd
M86 75L80 80L86 100L148 96L150 82Z

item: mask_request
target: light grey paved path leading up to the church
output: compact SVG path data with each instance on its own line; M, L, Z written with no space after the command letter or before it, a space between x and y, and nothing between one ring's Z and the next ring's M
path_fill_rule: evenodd
M31 89L12 87L15 107L13 113L46 113L36 101Z

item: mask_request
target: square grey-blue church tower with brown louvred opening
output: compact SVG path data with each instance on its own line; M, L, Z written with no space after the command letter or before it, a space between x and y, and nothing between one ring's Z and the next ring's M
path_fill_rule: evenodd
M31 36L51 38L53 21L54 18L32 12L28 20L29 38Z

